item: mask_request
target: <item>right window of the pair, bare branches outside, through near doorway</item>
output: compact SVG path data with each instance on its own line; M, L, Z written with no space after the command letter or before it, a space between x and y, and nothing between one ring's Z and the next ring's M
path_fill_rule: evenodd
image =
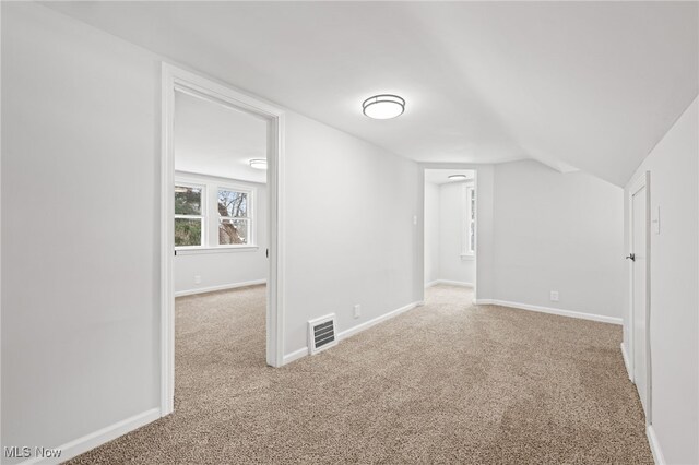
M250 192L218 189L218 245L247 245L250 240Z

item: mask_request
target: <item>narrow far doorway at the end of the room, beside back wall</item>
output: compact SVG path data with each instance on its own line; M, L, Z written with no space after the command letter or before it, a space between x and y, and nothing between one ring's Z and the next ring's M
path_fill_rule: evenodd
M424 284L476 286L476 171L425 169Z

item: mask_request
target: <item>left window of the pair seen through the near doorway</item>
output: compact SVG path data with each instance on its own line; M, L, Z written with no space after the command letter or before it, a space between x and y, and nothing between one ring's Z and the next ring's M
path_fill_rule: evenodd
M175 186L175 247L204 245L203 199L202 186Z

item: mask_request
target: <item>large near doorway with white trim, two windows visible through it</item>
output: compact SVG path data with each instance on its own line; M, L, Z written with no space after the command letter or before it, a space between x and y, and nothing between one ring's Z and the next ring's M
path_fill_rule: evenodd
M280 109L163 64L162 416L175 405L176 320L210 338L250 330L232 320L257 321L259 334L241 344L259 342L256 362L283 362L283 133ZM212 350L230 355L218 336Z

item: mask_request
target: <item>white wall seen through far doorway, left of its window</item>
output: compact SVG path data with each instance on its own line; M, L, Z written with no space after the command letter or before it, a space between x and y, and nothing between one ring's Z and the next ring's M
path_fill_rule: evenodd
M439 187L439 279L473 285L474 257L461 255L465 208L463 182Z

